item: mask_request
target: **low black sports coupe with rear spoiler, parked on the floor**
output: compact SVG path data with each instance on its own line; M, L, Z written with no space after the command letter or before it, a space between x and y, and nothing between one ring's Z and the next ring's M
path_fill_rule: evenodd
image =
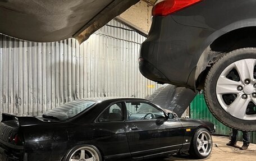
M206 158L211 122L177 118L145 99L75 100L38 117L3 114L1 160L131 160L189 151Z

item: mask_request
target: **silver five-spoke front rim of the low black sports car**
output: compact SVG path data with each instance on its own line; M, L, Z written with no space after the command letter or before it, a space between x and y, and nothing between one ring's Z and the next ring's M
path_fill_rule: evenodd
M202 131L196 139L198 152L203 156L208 156L212 150L212 137L207 131Z

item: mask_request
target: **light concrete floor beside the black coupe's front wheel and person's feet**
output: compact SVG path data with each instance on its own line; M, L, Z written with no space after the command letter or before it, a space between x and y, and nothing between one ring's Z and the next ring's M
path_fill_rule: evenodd
M199 160L232 160L232 161L255 161L256 160L256 144L250 144L248 150L240 150L239 147L234 148L227 146L226 143L229 141L227 137L213 136L213 148L212 153L206 159ZM217 144L217 146L216 146ZM243 142L237 142L238 146L242 146ZM147 161L175 161L175 160L195 160L191 159L188 155L174 155L172 157L154 158Z

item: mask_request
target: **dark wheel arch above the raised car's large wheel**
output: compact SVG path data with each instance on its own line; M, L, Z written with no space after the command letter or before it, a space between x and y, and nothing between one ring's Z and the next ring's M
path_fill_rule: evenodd
M227 32L223 33L223 31ZM202 48L204 50L196 65L194 87L203 89L205 76L209 68L222 54L239 48L256 47L255 31L256 22L253 26L225 27L210 35L205 41L208 43L205 43L205 47Z

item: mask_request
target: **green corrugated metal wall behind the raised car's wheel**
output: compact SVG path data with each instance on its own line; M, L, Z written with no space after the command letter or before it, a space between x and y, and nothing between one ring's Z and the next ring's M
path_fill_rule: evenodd
M215 134L229 136L230 131L232 131L231 128L223 125L211 114L205 103L204 94L202 92L196 95L195 99L190 104L190 117L196 119L206 119L214 123L214 125L216 125ZM237 139L239 139L240 141L243 140L242 133L240 131L237 136ZM250 139L251 142L256 143L256 132L250 132Z

